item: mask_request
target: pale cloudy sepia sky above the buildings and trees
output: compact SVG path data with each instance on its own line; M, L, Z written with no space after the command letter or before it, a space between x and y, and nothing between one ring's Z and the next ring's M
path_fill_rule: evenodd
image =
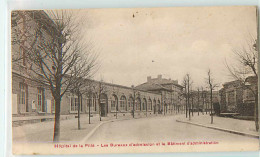
M95 75L125 86L161 74L182 83L189 73L194 86L206 86L207 71L221 85L232 78L225 60L256 36L254 7L172 7L85 9L84 40L99 53Z

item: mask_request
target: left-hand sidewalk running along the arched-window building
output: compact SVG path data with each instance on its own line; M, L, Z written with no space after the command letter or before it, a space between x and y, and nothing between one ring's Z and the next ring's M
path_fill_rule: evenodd
M175 115L175 114L172 114ZM160 117L163 115L148 115L149 117ZM167 116L171 116L168 114ZM127 120L133 119L132 115L118 115L118 118L114 115L108 117L102 117L100 121L99 116L91 117L91 123L89 124L89 117L87 114L81 115L80 124L81 129L78 130L78 119L75 118L75 115L70 115L69 118L65 118L60 121L60 142L80 142L84 139L93 129L97 128L101 123L118 121L118 120ZM53 140L53 131L54 131L54 121L44 121L40 123L31 123L32 119L37 118L53 118L53 116L34 116L31 118L22 119L27 121L26 125L17 125L13 126L13 140L14 142L23 143L52 143ZM135 115L135 119L146 118L146 115ZM65 120L66 119L66 120Z

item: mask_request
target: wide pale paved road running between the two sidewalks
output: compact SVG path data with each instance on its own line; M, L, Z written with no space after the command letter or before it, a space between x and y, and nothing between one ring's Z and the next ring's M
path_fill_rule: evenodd
M178 123L176 118L176 116L155 117L106 123L85 142L232 141L232 143L258 144L258 139Z

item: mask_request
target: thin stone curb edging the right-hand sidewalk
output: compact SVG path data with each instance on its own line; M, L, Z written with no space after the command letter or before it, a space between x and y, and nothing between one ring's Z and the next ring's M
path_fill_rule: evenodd
M237 134L237 135L248 136L248 137L253 137L253 138L259 139L259 135L253 135L250 133L239 132L239 131L235 131L235 130L229 130L229 129L218 128L218 127L213 127L213 126L207 126L207 125L203 125L203 124L199 124L199 123L186 122L186 121L181 121L181 120L176 120L176 122L196 125L196 126L200 126L200 127L204 127L204 128L209 128L209 129L214 129L214 130L219 130L219 131L224 131L224 132L229 132L229 133L233 133L233 134Z

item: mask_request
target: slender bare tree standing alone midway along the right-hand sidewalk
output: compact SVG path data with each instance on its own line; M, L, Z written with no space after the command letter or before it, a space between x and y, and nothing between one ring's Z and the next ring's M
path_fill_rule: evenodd
M213 90L218 86L216 83L214 83L214 79L212 76L212 73L210 71L210 69L208 70L208 78L207 78L207 83L209 86L209 90L210 90L210 116L211 116L211 124L213 124Z

